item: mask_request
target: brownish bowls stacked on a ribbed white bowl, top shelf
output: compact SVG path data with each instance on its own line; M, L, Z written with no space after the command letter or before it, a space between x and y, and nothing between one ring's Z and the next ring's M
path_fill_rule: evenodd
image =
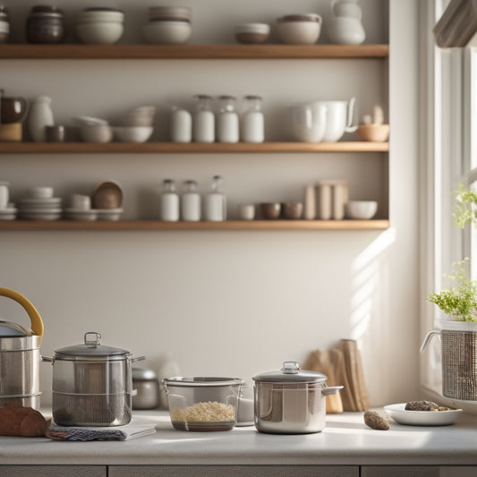
M192 35L191 9L186 6L153 6L144 25L144 38L149 43L179 45Z

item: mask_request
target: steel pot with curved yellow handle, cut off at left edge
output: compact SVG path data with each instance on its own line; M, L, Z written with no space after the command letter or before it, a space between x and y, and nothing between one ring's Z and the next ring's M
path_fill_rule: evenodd
M4 287L0 287L0 295L20 303L31 321L31 329L27 329L0 320L0 407L39 409L39 346L43 321L23 295Z

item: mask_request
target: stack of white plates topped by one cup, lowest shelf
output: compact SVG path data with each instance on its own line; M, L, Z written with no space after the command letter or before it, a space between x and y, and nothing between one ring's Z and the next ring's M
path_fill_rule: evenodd
M62 215L61 202L61 198L53 196L53 187L32 187L18 202L18 214L30 220L57 220Z

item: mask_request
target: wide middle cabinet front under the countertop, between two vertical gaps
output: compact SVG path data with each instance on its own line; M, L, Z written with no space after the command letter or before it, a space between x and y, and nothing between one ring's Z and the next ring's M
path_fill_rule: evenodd
M344 465L110 465L108 477L359 477Z

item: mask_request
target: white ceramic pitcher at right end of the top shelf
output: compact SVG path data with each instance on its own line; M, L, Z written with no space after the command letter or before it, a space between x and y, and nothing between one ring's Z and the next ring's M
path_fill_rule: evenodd
M338 45L360 45L366 38L362 26L362 11L356 0L332 0L332 15L328 21L328 36Z

